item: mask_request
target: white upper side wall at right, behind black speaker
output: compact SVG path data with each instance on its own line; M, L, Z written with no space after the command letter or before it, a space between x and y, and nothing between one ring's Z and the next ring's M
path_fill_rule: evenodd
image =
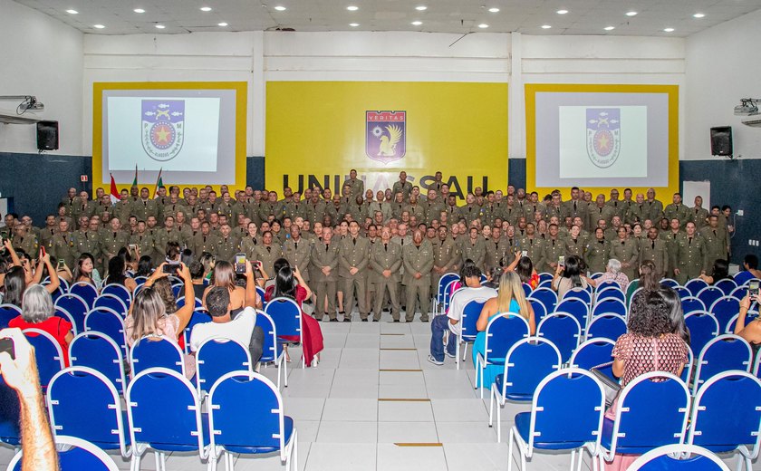
M740 122L740 98L761 98L761 10L718 24L687 39L687 140L685 159L711 156L714 126L732 126L735 156L761 159L761 129ZM754 119L759 116L754 117Z

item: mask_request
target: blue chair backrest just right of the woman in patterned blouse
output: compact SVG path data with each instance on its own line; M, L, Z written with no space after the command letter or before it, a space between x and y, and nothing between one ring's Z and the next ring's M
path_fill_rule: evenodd
M753 368L753 351L742 337L726 333L708 341L698 356L692 393L714 375L728 370L750 371Z

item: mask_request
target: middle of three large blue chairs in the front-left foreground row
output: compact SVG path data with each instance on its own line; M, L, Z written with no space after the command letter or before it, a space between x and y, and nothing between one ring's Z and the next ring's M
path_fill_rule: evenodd
M197 451L201 459L209 457L207 417L201 414L196 389L177 371L143 370L130 382L125 399L130 418L132 469L140 469L142 456L148 450L156 454L159 471L166 470L167 453ZM258 427L258 424L251 427L251 422L240 420L241 417L237 417L241 424Z

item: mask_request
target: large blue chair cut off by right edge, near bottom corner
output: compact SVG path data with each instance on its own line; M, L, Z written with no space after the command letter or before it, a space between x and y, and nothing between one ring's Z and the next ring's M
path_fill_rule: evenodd
M689 423L690 445L714 453L737 450L737 469L745 461L751 471L761 444L761 380L747 371L711 377L698 389Z

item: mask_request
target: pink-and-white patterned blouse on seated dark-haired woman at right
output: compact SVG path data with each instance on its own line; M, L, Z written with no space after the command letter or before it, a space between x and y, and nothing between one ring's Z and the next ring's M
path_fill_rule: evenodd
M613 357L623 360L621 388L650 371L667 371L679 376L688 360L688 346L675 333L660 337L643 337L624 333L613 347Z

